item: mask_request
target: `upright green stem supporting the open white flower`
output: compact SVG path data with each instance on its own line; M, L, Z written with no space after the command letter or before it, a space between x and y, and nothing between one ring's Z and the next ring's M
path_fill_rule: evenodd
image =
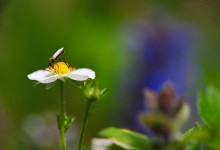
M66 137L65 137L65 128L64 128L64 121L65 121L65 107L64 107L64 86L63 81L60 81L60 146L61 150L66 150Z

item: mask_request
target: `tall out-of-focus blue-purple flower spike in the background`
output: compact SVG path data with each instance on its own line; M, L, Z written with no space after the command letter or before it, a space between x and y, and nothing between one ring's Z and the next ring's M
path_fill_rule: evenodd
M137 56L131 73L126 101L126 125L131 129L143 131L136 115L144 111L144 88L155 92L170 81L177 92L183 94L195 83L195 64L193 55L198 45L196 28L186 22L175 20L168 13L153 14L153 19L135 22L126 33L128 49ZM130 46L130 47L129 47Z

